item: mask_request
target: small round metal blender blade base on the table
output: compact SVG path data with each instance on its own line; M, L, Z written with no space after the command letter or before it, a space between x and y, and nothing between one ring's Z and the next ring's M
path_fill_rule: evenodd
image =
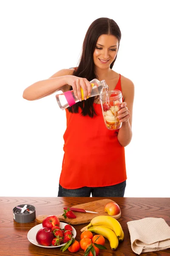
M19 209L19 208L23 208L25 206L26 206L26 210L22 212L22 209ZM34 219L36 218L36 211L33 205L20 204L17 207L14 207L13 209L14 221L18 223L28 223L28 222L34 221Z

